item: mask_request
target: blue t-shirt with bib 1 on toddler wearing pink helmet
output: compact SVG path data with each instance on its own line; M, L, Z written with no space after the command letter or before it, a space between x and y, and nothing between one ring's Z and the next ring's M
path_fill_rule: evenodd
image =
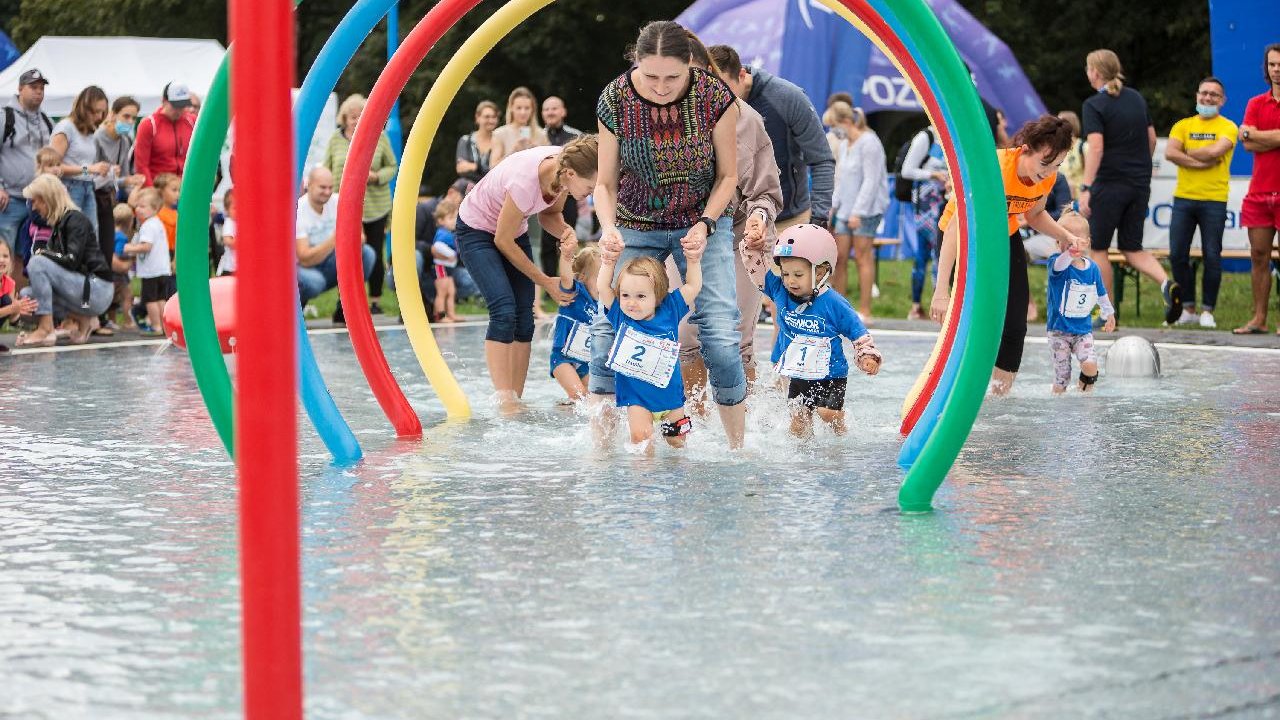
M778 306L780 332L769 360L780 374L806 380L849 377L840 338L858 340L867 325L845 296L828 288L801 311L773 273L764 275L764 293Z

